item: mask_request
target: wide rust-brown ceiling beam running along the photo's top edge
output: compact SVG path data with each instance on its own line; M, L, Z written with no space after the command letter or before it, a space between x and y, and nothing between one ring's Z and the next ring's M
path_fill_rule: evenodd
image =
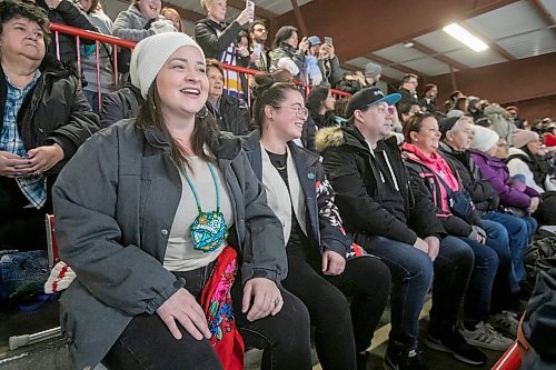
M350 60L395 43L433 32L450 21L460 21L514 3L517 0L397 0L349 1L315 0L300 8L311 34L335 38L340 60ZM400 11L400 10L404 11ZM338 22L338 16L348 20ZM396 21L393 22L393 14ZM279 16L277 27L295 24L294 11Z

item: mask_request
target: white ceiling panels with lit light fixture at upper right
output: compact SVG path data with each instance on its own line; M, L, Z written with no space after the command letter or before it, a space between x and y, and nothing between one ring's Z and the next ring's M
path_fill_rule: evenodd
M540 16L530 0L522 0L509 6L489 11L487 13L467 19L459 22L464 28L477 37L483 38L485 42L495 44L508 52L516 59L540 56L556 51L556 0L538 0L550 13L553 24L548 27L546 20ZM427 56L415 48L406 48L403 43L390 46L388 48L373 51L371 53L391 61L389 69L384 69L383 74L399 79L404 72L393 69L396 64L410 68L418 73L428 76L438 76L449 72L449 66L435 59L435 56L444 56L466 66L468 68L478 68L508 61L508 58L497 51L495 48L483 52L475 52L455 40L441 29L414 39L433 50L433 56ZM367 52L370 54L370 51ZM347 61L353 64L351 61ZM357 66L359 67L359 66ZM457 69L456 69L457 70ZM390 73L391 72L391 73Z

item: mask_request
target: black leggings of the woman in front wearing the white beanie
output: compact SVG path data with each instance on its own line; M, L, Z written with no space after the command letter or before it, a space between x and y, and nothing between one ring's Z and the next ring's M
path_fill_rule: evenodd
M209 277L210 267L178 272L186 289L198 296ZM304 303L281 289L284 307L275 317L250 322L241 313L241 277L232 290L234 316L246 347L264 349L261 369L307 370L311 368L309 314ZM158 314L136 316L102 360L109 369L171 370L222 369L207 339L196 340L181 326L182 338L176 340Z

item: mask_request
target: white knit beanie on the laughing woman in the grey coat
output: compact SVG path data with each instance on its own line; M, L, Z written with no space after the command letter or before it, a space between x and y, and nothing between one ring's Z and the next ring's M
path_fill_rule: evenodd
M150 36L137 43L131 53L129 73L131 83L147 98L149 88L168 58L181 47L195 47L205 60L202 49L189 36L181 32L165 32Z

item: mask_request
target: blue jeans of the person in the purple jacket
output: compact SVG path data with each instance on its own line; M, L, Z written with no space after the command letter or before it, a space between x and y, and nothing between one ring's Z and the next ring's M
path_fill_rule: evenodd
M483 214L483 219L502 223L508 231L509 251L512 253L509 289L512 292L517 292L519 291L519 281L525 279L523 259L537 229L537 221L530 216L519 218L500 212L486 212Z

